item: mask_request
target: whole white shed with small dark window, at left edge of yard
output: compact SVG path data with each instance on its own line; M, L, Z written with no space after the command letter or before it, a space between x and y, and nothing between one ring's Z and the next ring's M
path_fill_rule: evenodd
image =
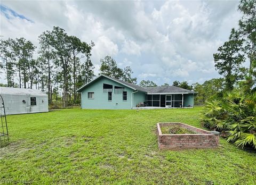
M5 114L48 112L48 96L40 90L0 87Z

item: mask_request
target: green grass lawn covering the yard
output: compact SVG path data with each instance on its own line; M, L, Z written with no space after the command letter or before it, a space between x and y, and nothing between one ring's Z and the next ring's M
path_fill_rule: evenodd
M158 150L156 123L201 128L202 108L80 110L7 116L0 178L34 184L255 184L256 153Z

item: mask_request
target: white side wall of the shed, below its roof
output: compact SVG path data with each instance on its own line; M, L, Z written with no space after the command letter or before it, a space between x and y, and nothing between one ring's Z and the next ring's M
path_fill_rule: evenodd
M26 114L48 112L48 97L38 95L2 95L5 106L5 114ZM30 97L36 97L36 105L30 105ZM22 101L25 100L26 103ZM1 101L2 102L2 101Z

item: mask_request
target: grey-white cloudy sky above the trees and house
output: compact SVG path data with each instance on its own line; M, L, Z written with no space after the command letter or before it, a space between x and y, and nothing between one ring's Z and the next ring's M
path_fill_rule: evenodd
M4 39L38 36L59 26L94 41L92 61L110 55L133 76L158 85L219 77L213 53L237 27L239 1L1 1Z

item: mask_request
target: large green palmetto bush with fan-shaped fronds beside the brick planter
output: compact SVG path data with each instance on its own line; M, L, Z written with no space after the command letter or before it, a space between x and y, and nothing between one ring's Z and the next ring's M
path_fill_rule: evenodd
M226 93L207 101L202 120L204 127L221 132L228 142L256 148L256 93Z

